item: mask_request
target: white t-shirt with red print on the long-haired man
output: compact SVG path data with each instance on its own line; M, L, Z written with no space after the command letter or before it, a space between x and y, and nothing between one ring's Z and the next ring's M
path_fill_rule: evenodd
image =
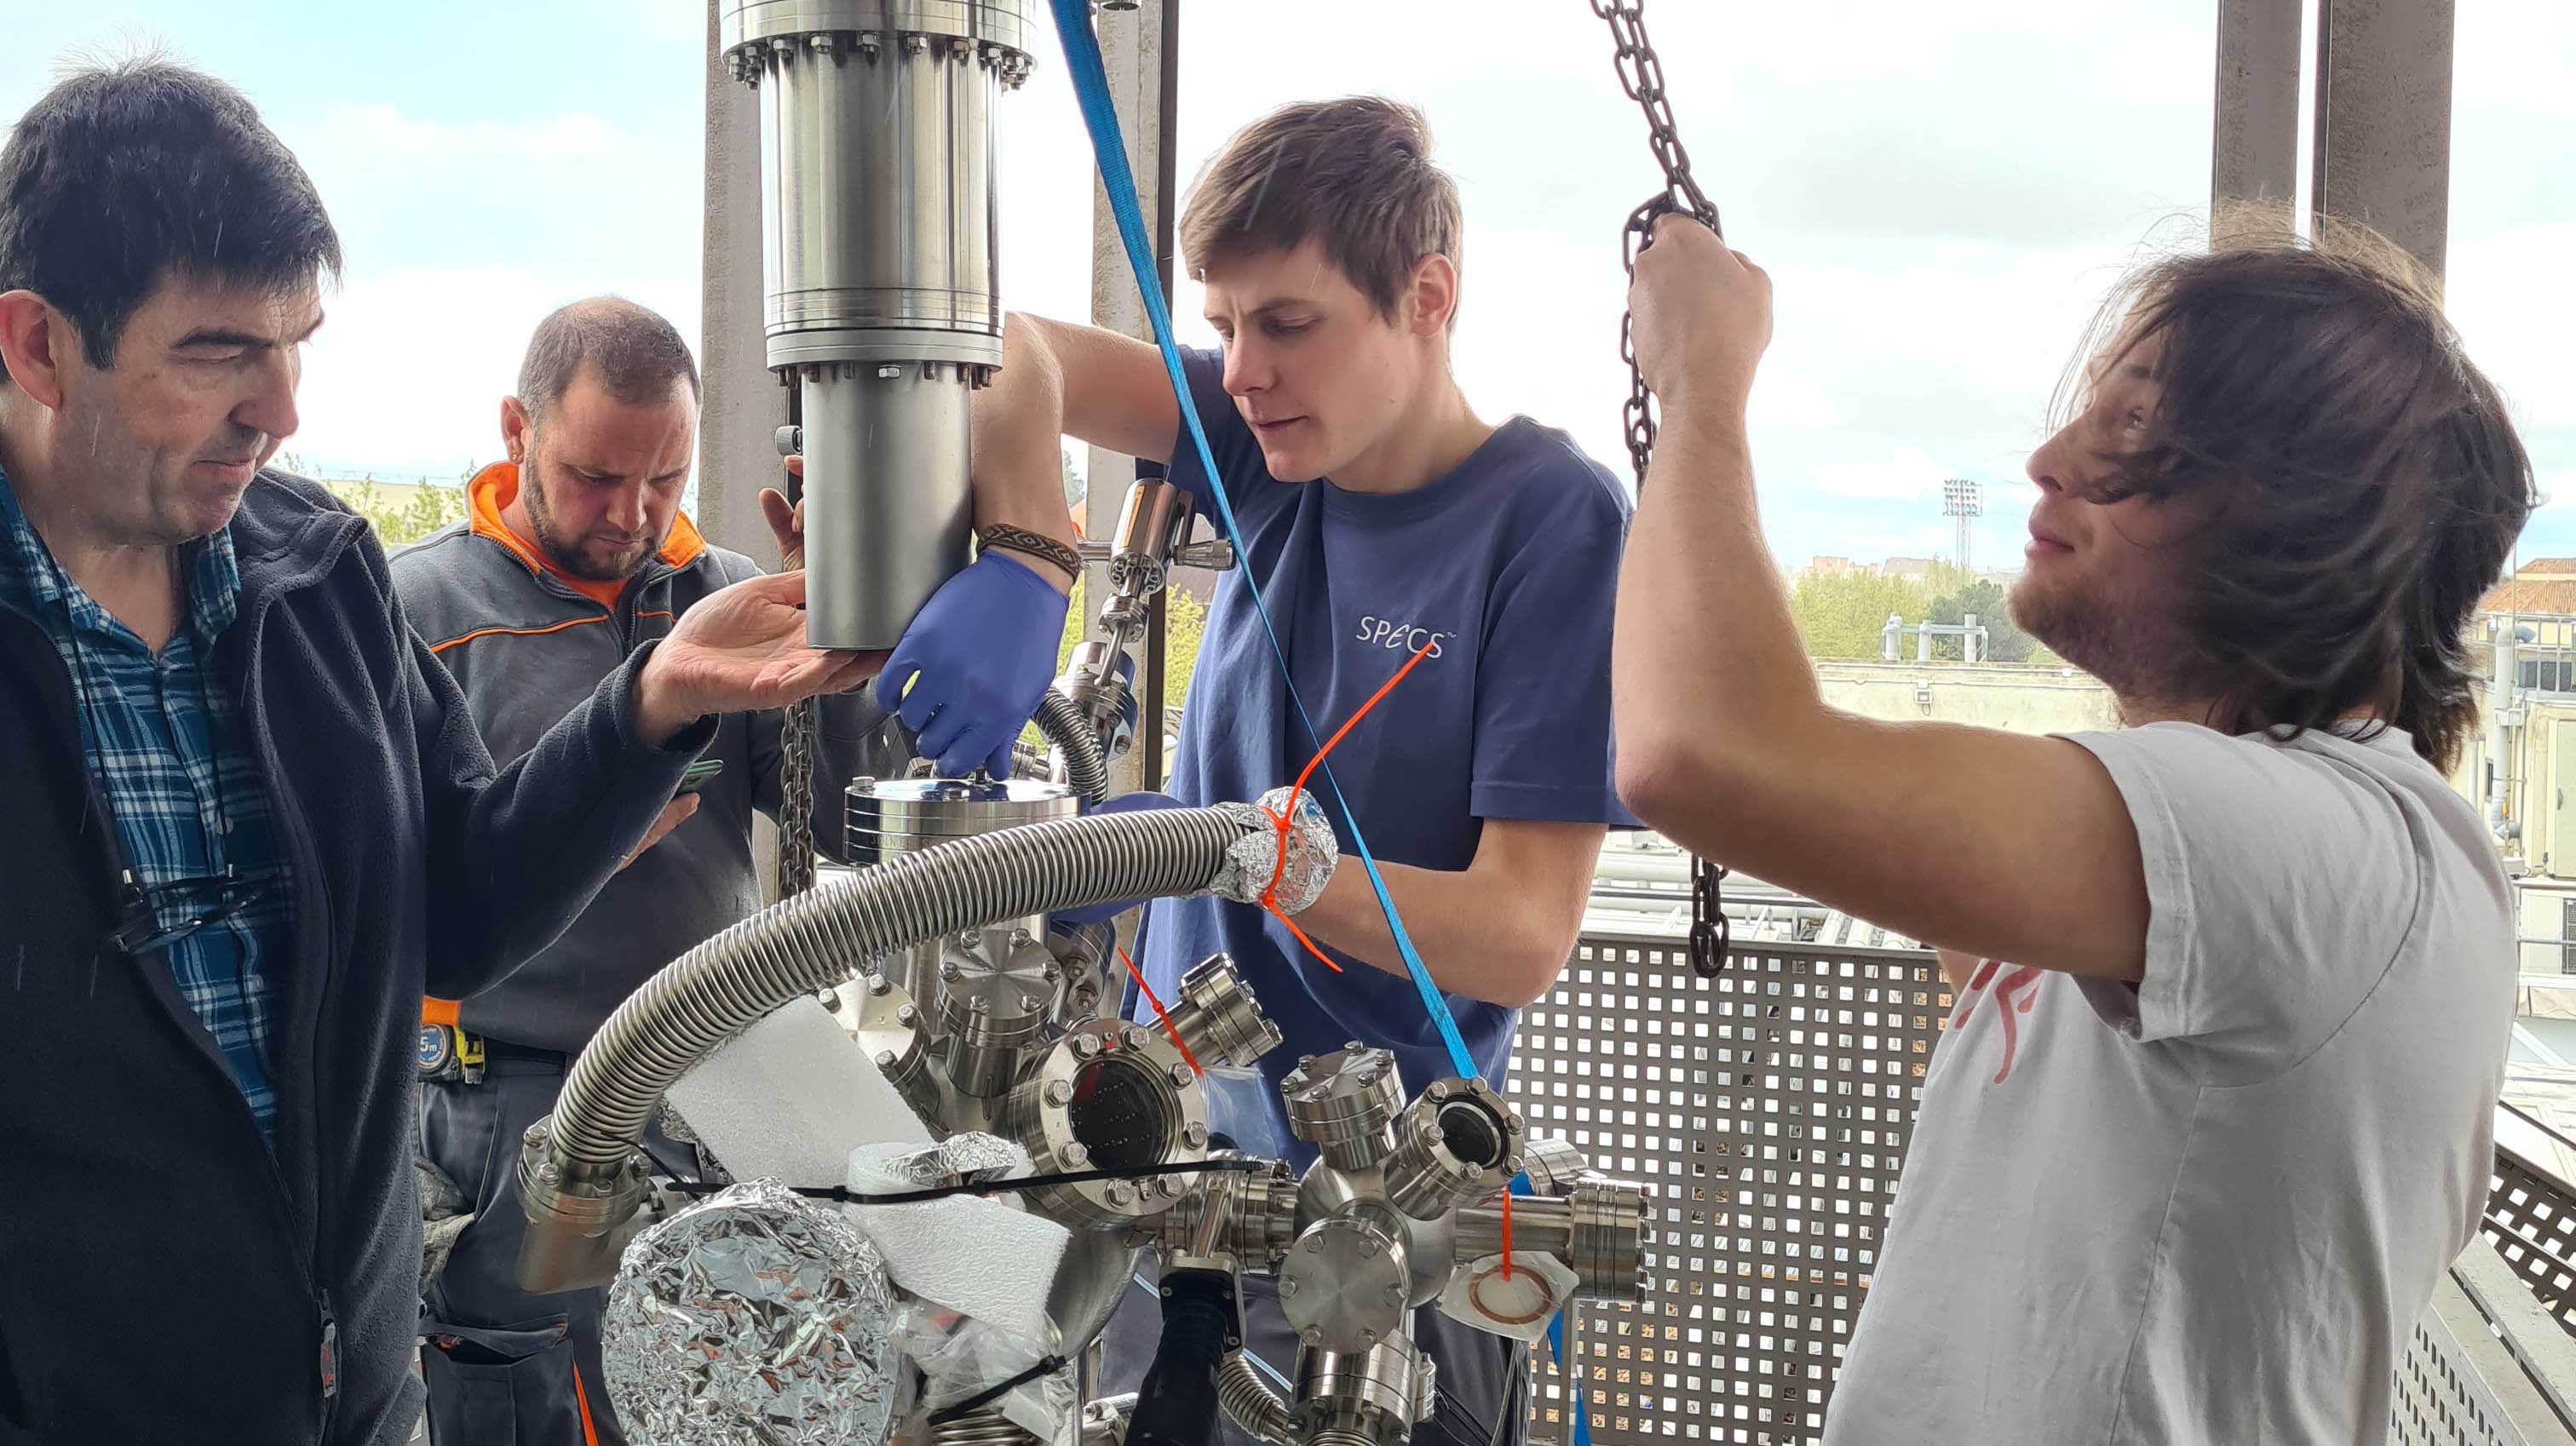
M2146 975L1981 962L1932 1055L1829 1446L2380 1441L2468 1245L2509 885L2406 733L2079 733Z

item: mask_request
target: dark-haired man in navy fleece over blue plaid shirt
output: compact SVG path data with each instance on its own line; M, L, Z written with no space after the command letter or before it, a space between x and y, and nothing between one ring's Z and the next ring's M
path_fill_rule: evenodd
M554 939L711 715L873 666L747 581L495 769L366 522L265 468L337 265L206 75L0 147L0 1441L402 1441L420 996Z

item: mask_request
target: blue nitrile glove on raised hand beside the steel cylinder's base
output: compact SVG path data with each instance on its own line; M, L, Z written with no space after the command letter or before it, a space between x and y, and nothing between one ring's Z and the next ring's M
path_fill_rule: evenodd
M876 705L920 733L945 777L1010 777L1010 741L1056 677L1064 594L1002 551L979 553L904 628L876 674Z

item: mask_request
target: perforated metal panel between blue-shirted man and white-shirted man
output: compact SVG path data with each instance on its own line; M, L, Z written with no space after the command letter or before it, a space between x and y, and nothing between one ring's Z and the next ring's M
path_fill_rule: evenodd
M1522 1011L1507 1094L1533 1132L1656 1186L1643 1304L1571 1330L1592 1438L1819 1441L1878 1266L1950 988L1919 949L1587 934ZM1569 1441L1540 1364L1533 1441Z

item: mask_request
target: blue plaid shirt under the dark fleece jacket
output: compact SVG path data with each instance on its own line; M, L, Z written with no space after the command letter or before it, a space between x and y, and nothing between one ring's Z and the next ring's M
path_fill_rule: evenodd
M273 1150L268 967L291 947L289 877L240 702L214 672L214 641L232 625L242 587L232 533L180 553L188 618L160 656L54 563L8 476L0 476L0 607L33 618L72 674L80 741L116 816L131 883L149 890L139 903L155 926L173 929L214 908L222 893L211 880L227 867L263 885L234 913L144 949L139 962L167 965ZM134 890L124 903L137 903Z

